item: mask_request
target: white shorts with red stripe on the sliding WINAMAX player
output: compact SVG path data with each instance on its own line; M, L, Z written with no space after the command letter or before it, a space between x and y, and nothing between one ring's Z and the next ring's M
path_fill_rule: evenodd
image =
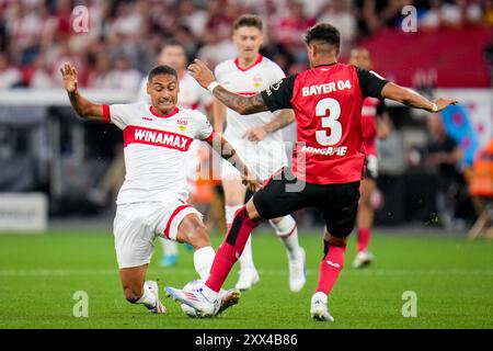
M188 214L203 215L184 201L119 204L113 222L118 267L133 268L150 262L154 238L176 240L180 223Z

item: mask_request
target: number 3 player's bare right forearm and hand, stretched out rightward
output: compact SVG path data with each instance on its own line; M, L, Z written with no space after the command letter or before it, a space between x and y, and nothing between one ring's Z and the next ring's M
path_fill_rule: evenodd
M440 112L448 105L457 104L457 100L449 98L439 98L435 102L432 102L417 92L392 82L388 82L383 87L381 97L401 102L410 107L426 110L428 112Z

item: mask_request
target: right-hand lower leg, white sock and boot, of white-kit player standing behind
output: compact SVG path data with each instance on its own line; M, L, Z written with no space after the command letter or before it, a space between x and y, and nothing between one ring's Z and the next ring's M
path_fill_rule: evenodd
M298 226L290 215L268 222L286 248L289 260L289 288L298 293L307 282L305 250L298 242Z

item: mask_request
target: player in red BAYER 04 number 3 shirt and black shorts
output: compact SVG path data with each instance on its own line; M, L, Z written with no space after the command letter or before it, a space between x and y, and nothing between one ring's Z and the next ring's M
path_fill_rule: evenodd
M328 295L344 265L364 173L363 100L366 97L391 99L429 112L457 103L452 99L432 102L372 71L339 64L341 36L328 23L311 27L306 44L310 69L284 78L252 97L239 95L221 87L199 60L188 68L202 87L240 114L293 109L297 122L293 169L284 169L236 213L206 283L192 292L167 287L175 298L204 314L215 315L219 310L220 287L253 228L262 220L314 206L322 214L325 230L324 257L310 314L318 320L333 320L326 306ZM298 191L294 191L295 186Z

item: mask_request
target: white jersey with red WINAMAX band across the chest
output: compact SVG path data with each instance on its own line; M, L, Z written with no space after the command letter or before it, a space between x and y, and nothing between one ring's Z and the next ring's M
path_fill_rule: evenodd
M123 129L125 182L117 204L186 200L185 160L194 139L210 139L213 126L196 110L161 115L145 103L103 105L106 122Z

